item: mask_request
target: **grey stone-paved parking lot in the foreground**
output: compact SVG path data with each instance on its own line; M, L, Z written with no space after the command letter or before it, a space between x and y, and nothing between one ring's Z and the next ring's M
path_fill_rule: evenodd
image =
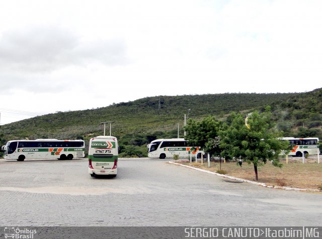
M263 188L167 162L120 159L116 178L92 178L87 159L1 159L0 225L320 225L320 193Z

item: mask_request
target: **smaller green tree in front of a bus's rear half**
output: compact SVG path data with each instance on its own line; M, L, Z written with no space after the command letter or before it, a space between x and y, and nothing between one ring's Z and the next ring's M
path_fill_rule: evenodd
M208 116L201 121L189 119L185 126L187 132L185 139L194 147L199 146L209 154L215 153L213 145L208 142L218 136L220 126L221 121L216 120L214 116Z

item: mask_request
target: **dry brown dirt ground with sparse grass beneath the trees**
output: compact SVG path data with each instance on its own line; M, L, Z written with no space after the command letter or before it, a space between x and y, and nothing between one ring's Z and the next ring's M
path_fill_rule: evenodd
M267 162L264 166L258 168L258 182L263 182L268 186L286 186L295 188L307 188L307 189L322 189L322 157L320 163L317 163L317 159L305 159L305 163L302 163L302 158L288 158L280 160L283 163L283 167L274 167L271 162ZM202 168L205 170L216 172L219 170L219 160L211 161L210 167L208 167L207 160L201 160L198 162L179 162L185 165ZM255 171L253 164L243 162L238 164L237 161L221 162L221 169L224 170L224 174L243 178L247 180L255 180Z

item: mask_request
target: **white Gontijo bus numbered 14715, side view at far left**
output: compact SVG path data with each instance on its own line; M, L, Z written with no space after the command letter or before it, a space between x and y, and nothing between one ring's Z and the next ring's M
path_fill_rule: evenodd
M85 157L84 140L11 140L5 146L5 159L73 159Z

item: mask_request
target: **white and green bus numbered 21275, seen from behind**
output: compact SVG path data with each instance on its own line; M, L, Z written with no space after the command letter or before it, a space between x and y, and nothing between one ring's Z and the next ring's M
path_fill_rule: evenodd
M117 175L118 161L117 138L113 136L97 136L90 140L89 146L89 174Z

